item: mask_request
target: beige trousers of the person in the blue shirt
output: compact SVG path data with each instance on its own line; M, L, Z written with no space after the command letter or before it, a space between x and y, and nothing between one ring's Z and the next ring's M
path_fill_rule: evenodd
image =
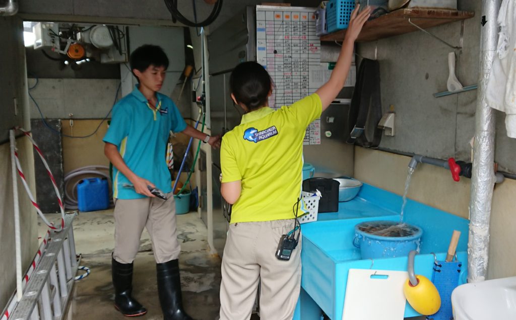
M156 263L178 259L181 247L175 221L172 193L167 200L160 198L115 200L115 250L113 258L120 263L132 263L138 249L143 228L151 236Z

